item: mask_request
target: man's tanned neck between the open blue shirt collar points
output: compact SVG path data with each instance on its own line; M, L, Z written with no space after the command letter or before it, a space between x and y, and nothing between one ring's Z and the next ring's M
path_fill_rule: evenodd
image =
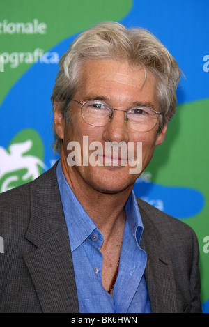
M117 193L100 192L86 183L75 171L61 160L63 173L72 192L84 207L86 213L101 231L104 238L109 238L118 226L125 226L125 204L132 187Z

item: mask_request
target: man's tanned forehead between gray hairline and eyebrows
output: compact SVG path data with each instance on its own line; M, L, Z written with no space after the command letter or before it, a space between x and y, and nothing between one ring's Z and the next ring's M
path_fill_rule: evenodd
M82 83L77 91L80 101L102 96L118 103L149 101L156 106L155 77L141 66L111 59L89 60L82 66Z

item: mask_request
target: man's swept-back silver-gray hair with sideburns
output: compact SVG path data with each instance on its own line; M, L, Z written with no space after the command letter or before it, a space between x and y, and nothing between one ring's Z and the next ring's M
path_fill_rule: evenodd
M69 99L75 96L81 82L82 64L89 59L127 60L155 75L157 100L162 111L160 128L176 112L176 89L180 68L164 45L150 31L127 29L117 22L102 22L81 33L59 62L52 102L59 101L59 110L68 121ZM62 139L54 132L54 151L61 151Z

